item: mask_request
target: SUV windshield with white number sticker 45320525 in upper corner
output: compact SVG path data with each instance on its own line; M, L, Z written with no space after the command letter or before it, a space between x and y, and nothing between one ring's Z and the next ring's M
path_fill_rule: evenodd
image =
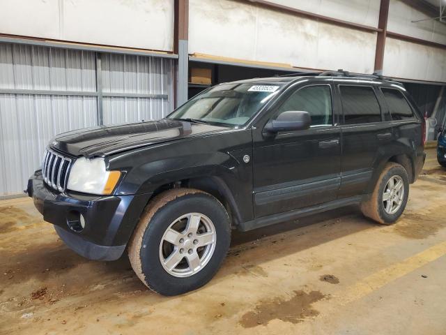
M221 84L187 101L168 119L243 126L275 96L282 84Z

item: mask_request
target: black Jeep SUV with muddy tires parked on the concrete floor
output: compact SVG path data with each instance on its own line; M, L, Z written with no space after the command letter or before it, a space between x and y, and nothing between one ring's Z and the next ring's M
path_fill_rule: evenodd
M231 229L360 204L389 224L424 164L424 119L398 82L346 72L219 84L159 121L63 133L27 192L93 260L128 248L148 288L210 281Z

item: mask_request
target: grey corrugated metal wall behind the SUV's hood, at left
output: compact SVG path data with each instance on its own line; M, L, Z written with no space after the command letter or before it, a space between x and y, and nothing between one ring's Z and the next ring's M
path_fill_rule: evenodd
M104 124L173 109L171 59L101 54ZM0 43L0 196L21 193L54 135L98 125L96 54Z

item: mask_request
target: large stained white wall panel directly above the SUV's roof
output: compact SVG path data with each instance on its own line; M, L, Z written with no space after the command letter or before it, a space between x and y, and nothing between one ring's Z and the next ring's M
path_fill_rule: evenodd
M191 0L189 38L190 53L362 73L376 45L374 33L228 0Z

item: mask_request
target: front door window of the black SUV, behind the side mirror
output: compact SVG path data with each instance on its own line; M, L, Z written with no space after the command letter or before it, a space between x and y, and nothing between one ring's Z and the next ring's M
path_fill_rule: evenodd
M331 126L333 116L330 86L307 86L295 91L279 107L279 113L287 110L309 112L312 117L312 126Z

